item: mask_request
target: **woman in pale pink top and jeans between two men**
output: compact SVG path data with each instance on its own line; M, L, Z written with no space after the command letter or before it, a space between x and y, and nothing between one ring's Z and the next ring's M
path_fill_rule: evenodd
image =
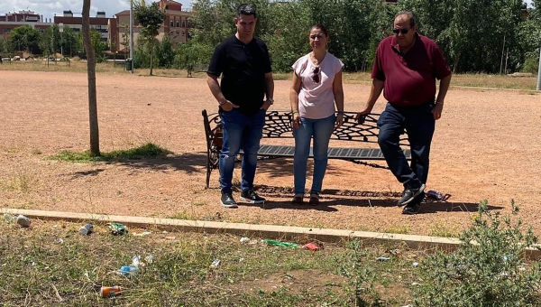
M344 64L326 51L329 35L323 24L310 28L312 51L293 64L293 86L289 94L293 113L295 157L293 161L295 196L291 203L301 204L307 181L307 160L314 138L314 173L309 204L319 204L319 194L327 166L329 139L335 125L344 116L342 67ZM335 106L337 115L335 116Z

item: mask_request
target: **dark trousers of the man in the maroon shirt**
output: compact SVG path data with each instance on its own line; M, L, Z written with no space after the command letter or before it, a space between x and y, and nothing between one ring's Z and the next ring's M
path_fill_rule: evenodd
M404 184L405 189L417 189L428 178L430 144L436 128L432 115L434 100L418 107L385 107L378 120L381 153L390 172ZM399 137L406 131L411 149L411 165L399 146Z

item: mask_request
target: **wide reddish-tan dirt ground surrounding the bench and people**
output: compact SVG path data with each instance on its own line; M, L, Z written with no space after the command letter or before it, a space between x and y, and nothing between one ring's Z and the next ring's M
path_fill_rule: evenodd
M451 88L427 182L451 197L404 216L395 205L402 187L389 170L337 160L329 161L320 206L289 205L292 160L281 159L259 164L264 205L222 208L217 172L205 189L201 110L216 109L205 79L97 76L102 152L151 142L175 153L122 163L47 159L89 148L86 74L0 71L0 81L0 207L445 235L470 225L479 201L506 213L515 200L520 217L541 231L539 94ZM275 82L274 109L289 108L289 82ZM345 110L360 109L369 90L344 84ZM374 112L383 107L381 98Z

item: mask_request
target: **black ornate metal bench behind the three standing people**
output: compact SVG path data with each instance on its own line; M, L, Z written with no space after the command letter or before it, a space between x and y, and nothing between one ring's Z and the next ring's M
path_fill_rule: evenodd
M220 151L222 150L222 124L218 113L207 114L203 110L203 125L205 126L206 135L206 188L210 181L210 173L218 169L218 160ZM344 125L335 129L331 135L331 143L328 149L329 159L341 159L351 161L353 163L368 164L364 161L385 160L378 143L377 126L380 114L370 114L364 117L361 123L355 120L355 112L344 112ZM280 157L293 157L295 154L294 141L291 145L273 145L264 144L266 138L293 138L293 128L291 126L290 111L269 111L265 117L265 126L263 126L263 136L261 139L260 150L258 156L267 159ZM362 147L333 147L337 142L360 142L364 144L375 144L369 148ZM400 138L400 145L403 148L409 148L408 139L405 135ZM241 151L242 154L242 151ZM406 158L411 160L409 149L404 149ZM310 149L310 157L314 157L312 149ZM369 164L371 165L371 164ZM376 165L373 165L376 166Z

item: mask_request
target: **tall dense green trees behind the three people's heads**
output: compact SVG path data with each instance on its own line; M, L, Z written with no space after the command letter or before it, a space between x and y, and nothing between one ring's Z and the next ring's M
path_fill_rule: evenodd
M192 44L212 50L234 33L233 18L243 0L196 0ZM256 35L268 43L274 70L290 70L307 53L310 25L324 23L329 51L344 61L344 70L370 70L375 49L391 34L399 11L417 16L418 32L435 40L454 72L499 73L524 70L536 62L541 46L541 0L524 12L522 0L254 0L259 20ZM210 52L206 54L206 61ZM204 61L205 59L199 59Z

